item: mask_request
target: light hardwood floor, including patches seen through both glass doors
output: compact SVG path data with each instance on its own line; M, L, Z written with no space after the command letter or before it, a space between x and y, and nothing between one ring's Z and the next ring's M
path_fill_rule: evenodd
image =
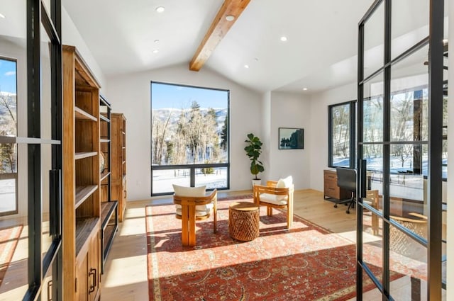
M218 198L244 194L252 194L252 191L219 191ZM148 301L145 206L170 203L172 203L171 196L128 203L125 220L118 227L118 233L106 261L104 275L101 277L102 300ZM321 191L308 189L295 191L294 193L294 213L296 215L355 242L355 210L351 210L350 214L347 214L345 210L346 207L344 205L338 205L338 208L333 208L333 203L325 200ZM16 264L8 268L3 284L0 285L0 301L19 300L27 288L26 277L24 277L27 271L26 256L28 251L26 220L6 219L0 222L1 227L17 224L24 225L11 261ZM365 242L374 244L377 242L377 237L369 235L365 237ZM413 249L417 251L417 248L410 247L406 249L410 249L411 258L419 258L419 253L413 254ZM425 254L425 251L423 253ZM392 294L397 297L396 300L411 300L411 285L409 283L409 276L404 276L391 283ZM425 294L426 285L421 283L421 296ZM377 295L376 290L369 291L363 295L363 300L366 301L380 299L381 297ZM445 300L444 290L443 300Z

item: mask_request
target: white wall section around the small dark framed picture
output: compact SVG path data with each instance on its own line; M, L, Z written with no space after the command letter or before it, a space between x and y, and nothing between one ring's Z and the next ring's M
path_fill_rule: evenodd
M270 101L270 170L267 176L277 180L293 176L295 189L310 187L310 124L309 98L297 93L271 92ZM304 149L279 149L279 127L304 128Z

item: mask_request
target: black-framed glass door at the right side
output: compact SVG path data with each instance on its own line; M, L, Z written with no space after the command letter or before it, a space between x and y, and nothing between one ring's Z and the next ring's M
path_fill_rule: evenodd
M358 300L445 300L444 6L375 1L359 24Z

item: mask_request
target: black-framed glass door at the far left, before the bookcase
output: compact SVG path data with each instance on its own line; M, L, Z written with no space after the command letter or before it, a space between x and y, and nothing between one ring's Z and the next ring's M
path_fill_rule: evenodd
M61 3L1 8L0 300L62 300Z

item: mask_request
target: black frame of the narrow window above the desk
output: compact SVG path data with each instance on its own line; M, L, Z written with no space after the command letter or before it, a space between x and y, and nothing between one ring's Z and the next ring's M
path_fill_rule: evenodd
M350 169L355 168L356 163L356 100L353 101L344 101L343 103L335 103L333 105L328 106L328 167L336 168L341 167L338 165L333 164L333 108L338 106L345 106L349 105L350 110L350 143L349 143L349 160L348 167Z

